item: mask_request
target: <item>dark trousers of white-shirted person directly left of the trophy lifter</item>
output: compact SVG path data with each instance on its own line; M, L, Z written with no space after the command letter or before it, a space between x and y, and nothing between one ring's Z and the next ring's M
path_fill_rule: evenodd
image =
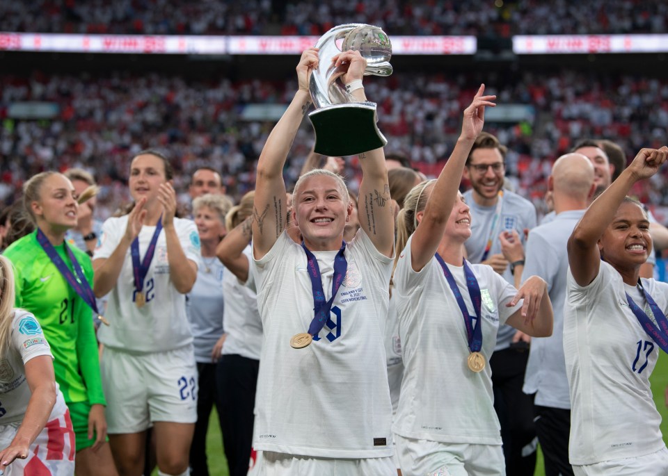
M230 476L246 476L253 445L253 409L260 361L223 355L218 363L218 393L223 396L221 428Z

